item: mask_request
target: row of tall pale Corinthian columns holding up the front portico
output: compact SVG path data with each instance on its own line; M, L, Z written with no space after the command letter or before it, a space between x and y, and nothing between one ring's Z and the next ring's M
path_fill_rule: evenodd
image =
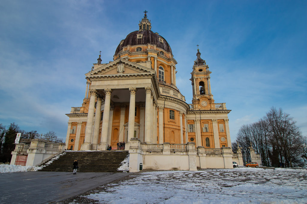
M137 88L130 87L130 103L129 103L129 118L128 118L128 137L126 148L129 148L130 139L134 137L134 122L135 122L135 95ZM156 132L153 129L153 96L152 88L145 87L146 91L146 101L145 101L145 138L144 142L151 143L151 135L153 132ZM107 138L109 130L109 118L110 118L110 103L111 103L111 94L112 89L104 89L105 100L104 100L104 111L103 111L103 122L101 130L101 138L99 138L99 124L101 118L101 104L102 97L99 95L97 90L89 89L90 103L87 113L87 123L85 129L85 138L84 143L81 145L81 150L106 150L107 149ZM96 104L96 113L94 121L94 110L95 110L95 100L97 99ZM93 128L94 126L94 128ZM157 127L157 126L156 126ZM93 131L92 131L93 130Z

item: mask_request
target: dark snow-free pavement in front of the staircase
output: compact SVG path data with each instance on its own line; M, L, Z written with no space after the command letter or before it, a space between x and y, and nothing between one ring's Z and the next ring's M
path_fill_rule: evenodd
M0 203L56 203L129 176L129 172L12 172L0 174Z

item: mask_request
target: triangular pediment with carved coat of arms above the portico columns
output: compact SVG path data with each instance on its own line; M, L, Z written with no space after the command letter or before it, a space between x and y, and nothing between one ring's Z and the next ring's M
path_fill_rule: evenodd
M105 65L101 65L97 69L85 74L89 78L104 78L104 77L129 77L140 75L154 75L153 69L149 69L139 63L118 59Z

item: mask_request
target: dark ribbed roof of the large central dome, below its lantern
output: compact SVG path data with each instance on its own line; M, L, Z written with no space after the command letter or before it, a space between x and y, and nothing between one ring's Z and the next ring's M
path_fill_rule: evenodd
M139 37L139 34L142 34L141 38ZM154 33L151 30L139 30L129 33L127 37L119 43L116 48L115 55L117 55L125 46L147 44L156 45L158 48L161 48L166 52L170 52L172 54L172 50L169 46L169 43L167 43L161 35L159 35L158 33Z

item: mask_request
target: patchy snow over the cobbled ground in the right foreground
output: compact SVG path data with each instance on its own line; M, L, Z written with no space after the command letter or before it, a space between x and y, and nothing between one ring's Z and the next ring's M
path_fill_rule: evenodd
M86 198L99 203L307 203L306 169L143 172Z

